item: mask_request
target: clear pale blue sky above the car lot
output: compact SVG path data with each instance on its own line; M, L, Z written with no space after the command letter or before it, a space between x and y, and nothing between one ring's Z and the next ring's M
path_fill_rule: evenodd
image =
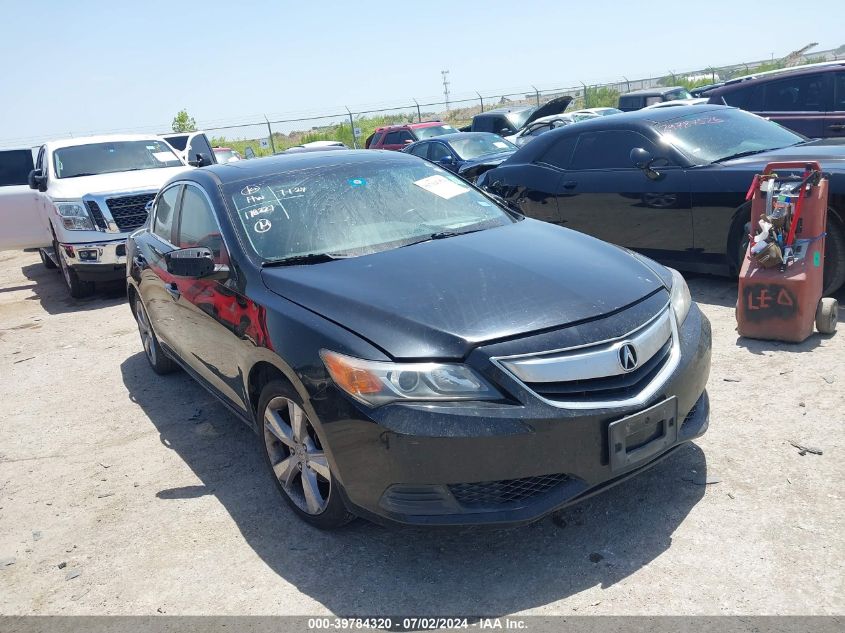
M165 131L183 107L211 126L422 101L442 97L442 69L460 96L845 44L841 21L794 10L778 0L764 10L736 0L0 0L0 145Z

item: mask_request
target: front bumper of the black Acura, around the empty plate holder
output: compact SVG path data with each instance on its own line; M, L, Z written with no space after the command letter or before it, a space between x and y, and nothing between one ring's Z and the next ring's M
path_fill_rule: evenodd
M388 523L518 525L645 470L707 430L711 334L697 306L678 334L680 361L639 407L575 411L534 398L338 408L339 393L312 404L353 512ZM672 441L611 464L611 422L669 398L680 423Z

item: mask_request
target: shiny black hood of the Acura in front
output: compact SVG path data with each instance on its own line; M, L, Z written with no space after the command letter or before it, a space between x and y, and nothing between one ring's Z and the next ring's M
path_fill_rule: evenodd
M265 285L391 357L464 358L492 340L594 319L662 287L628 252L525 219L390 251L262 270Z

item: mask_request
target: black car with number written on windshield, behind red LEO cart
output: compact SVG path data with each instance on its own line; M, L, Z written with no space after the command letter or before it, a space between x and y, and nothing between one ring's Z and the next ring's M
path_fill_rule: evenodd
M729 274L745 251L754 175L769 162L807 160L831 174L829 293L845 282L845 145L742 110L678 106L582 121L543 134L478 184L533 218L682 270Z

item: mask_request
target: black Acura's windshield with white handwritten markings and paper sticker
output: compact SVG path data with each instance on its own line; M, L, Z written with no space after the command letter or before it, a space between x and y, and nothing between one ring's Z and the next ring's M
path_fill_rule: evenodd
M224 194L238 229L268 263L366 255L516 221L457 176L403 159L323 161L230 183Z

